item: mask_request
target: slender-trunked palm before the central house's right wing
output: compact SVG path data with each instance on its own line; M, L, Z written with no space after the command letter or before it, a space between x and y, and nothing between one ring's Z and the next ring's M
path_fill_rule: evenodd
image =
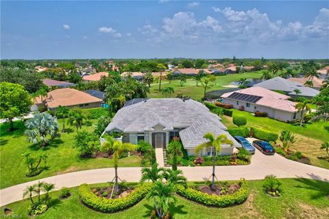
M211 183L211 189L215 190L215 161L216 161L216 155L221 153L221 145L222 144L228 144L231 147L233 146L233 141L228 139L228 137L224 134L219 135L215 138L214 134L208 132L206 135L204 135L204 139L207 139L208 141L206 143L201 143L195 148L195 154L199 154L199 151L203 148L214 148L214 151L212 151L212 183Z

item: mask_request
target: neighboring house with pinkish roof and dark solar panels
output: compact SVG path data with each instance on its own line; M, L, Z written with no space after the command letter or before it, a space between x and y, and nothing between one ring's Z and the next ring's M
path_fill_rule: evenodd
M264 89L250 87L221 95L223 103L232 104L234 108L254 113L267 113L268 117L289 122L300 118L300 112L295 108L296 103L289 101L287 95Z

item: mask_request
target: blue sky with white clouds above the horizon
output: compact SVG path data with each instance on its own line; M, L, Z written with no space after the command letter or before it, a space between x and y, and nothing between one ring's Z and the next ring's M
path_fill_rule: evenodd
M1 59L329 58L329 1L1 1Z

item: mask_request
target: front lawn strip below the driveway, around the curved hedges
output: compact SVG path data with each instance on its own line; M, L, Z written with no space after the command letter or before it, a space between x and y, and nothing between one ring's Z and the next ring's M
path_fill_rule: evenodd
M328 217L329 183L304 178L281 179L284 192L279 198L273 198L263 192L263 181L249 181L250 195L242 205L234 207L215 208L193 203L178 197L175 206L170 211L174 218L317 218ZM106 185L105 183L98 184ZM56 205L48 209L45 214L36 218L149 218L153 203L143 199L140 203L114 214L102 214L88 209L80 203L77 188L71 189L72 196L58 200ZM57 198L59 192L51 193ZM23 200L8 205L23 218L27 218L29 200Z

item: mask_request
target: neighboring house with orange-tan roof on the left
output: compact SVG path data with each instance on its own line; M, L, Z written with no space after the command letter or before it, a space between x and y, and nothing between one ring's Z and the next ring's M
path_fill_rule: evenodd
M95 108L99 107L102 101L88 93L76 89L63 88L48 92L47 97L37 97L35 104L36 106L45 105L48 110L56 110L58 106Z

